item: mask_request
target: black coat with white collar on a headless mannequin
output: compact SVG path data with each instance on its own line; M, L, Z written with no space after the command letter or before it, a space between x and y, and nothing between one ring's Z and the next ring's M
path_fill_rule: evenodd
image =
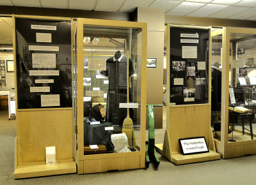
M121 57L121 58L120 58ZM106 61L106 71L102 75L109 78L108 100L106 107L106 121L122 126L127 115L127 108L119 108L119 103L127 103L127 57L117 51L114 57ZM129 59L129 77L134 74L132 59ZM132 93L129 89L129 101ZM130 108L130 117L133 112Z

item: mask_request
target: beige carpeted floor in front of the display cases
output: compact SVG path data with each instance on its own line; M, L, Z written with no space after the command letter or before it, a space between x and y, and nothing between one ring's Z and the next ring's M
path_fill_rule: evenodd
M0 184L256 184L256 155L176 166L163 157L156 170L112 171L13 179L15 120L0 110ZM156 135L157 137L157 135Z

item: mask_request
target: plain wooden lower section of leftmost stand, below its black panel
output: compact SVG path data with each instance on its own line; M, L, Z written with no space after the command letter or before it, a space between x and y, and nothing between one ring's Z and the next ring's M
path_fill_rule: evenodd
M76 173L72 108L17 110L17 128L14 179ZM47 165L45 147L51 145L56 163Z

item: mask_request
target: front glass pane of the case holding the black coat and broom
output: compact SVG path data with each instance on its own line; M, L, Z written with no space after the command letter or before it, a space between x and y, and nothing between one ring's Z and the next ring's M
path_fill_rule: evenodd
M120 103L141 104L141 41L141 29L84 25L84 154L140 151L141 108Z

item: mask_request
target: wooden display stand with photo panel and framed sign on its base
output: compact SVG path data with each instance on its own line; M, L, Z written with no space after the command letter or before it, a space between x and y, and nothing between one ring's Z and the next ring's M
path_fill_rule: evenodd
M210 126L211 27L168 25L167 30L167 125L157 151L176 165L220 159Z

